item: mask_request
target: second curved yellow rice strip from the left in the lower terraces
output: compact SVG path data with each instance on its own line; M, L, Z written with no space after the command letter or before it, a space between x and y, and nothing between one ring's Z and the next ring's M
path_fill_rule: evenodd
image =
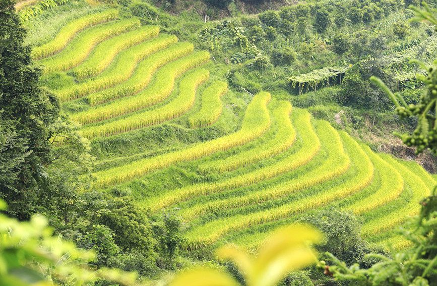
M278 114L273 115L273 128L269 131L269 133L274 133L272 140L266 140L251 150L240 152L221 160L200 164L197 168L199 173L221 173L234 170L260 159L271 157L289 148L296 139L296 132L289 119L291 104L287 101L280 101L279 104L284 105L285 109L288 108L288 115L281 108L274 109L274 112L278 112Z

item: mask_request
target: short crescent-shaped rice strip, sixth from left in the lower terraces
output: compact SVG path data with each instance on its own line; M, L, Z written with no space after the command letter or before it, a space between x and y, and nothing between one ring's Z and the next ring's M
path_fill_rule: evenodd
M372 160L373 166L379 171L381 187L370 196L348 206L347 209L354 214L361 214L395 200L404 189L404 180L396 168L373 153L367 146L362 146L362 148Z

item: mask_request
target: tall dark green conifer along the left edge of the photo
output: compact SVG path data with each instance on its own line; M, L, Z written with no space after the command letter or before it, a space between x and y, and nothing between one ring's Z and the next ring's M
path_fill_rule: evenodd
M21 145L4 145L2 157L20 152L22 159L7 167L15 179L12 184L10 179L0 181L0 197L9 203L8 214L29 219L38 196L47 189L46 166L51 161L47 127L56 121L60 107L57 98L38 84L41 70L33 66L30 47L23 44L25 30L14 4L0 1L0 120L2 126L9 125L10 135L3 136L13 135ZM0 168L10 163L2 160Z

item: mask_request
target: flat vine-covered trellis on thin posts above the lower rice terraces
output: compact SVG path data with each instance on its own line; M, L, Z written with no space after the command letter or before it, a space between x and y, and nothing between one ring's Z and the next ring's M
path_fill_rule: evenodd
M349 69L349 67L325 67L320 70L314 70L307 74L301 74L288 78L288 82L290 83L291 88L299 87L299 94L306 88L312 88L313 90L317 90L318 85L326 85L329 86L329 80L331 78L335 78L337 82L337 78L340 78L340 83L342 80L342 76Z

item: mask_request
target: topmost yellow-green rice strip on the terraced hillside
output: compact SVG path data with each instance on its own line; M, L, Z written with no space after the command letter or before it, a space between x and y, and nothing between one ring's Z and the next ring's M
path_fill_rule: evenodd
M118 16L118 10L110 9L103 12L86 15L68 23L64 28L60 29L56 37L41 46L34 47L32 56L35 60L46 58L53 55L61 49L65 48L67 43L80 31L85 28L115 20ZM78 51L79 52L79 51Z

